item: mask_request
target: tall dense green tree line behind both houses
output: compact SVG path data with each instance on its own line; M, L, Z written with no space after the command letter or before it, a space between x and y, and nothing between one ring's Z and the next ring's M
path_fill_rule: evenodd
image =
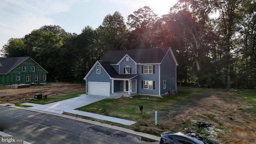
M144 6L125 23L114 12L81 34L42 26L23 38L10 38L1 52L30 56L49 72L48 80L81 82L110 50L171 47L180 85L255 88L255 8L255 0L178 0L160 17Z

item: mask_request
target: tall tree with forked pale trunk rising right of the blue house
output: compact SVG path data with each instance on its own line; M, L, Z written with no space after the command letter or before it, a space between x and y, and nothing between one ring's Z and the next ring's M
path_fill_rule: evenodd
M190 43L198 71L201 70L200 55L204 56L203 40L214 5L214 0L179 0L170 11L176 15L170 25L178 36Z

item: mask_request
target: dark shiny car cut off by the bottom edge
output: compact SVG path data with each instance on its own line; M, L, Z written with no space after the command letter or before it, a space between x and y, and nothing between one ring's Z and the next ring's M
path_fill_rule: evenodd
M194 132L179 130L179 131L163 132L161 134L160 144L213 144L213 143Z

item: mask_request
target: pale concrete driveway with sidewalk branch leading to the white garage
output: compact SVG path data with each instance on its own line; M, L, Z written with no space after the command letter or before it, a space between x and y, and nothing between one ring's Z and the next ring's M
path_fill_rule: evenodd
M131 120L124 120L120 118L114 118L110 116L104 116L100 114L93 114L90 112L83 112L80 110L74 110L76 108L80 108L82 106L86 106L88 104L103 100L109 98L108 96L92 96L92 95L86 95L82 94L78 97L75 98L70 98L67 100L62 100L58 102L53 102L50 104L34 104L34 103L23 103L23 105L27 106L33 106L33 107L28 107L28 109L34 109L34 110L41 110L41 111L47 111L47 112L54 112L58 114L62 114L63 112L68 112L71 114L78 114L81 116L87 116L90 118L97 118L100 120L106 120L109 122L116 122L119 124L124 124L124 125L132 125L135 124L136 122L131 121Z

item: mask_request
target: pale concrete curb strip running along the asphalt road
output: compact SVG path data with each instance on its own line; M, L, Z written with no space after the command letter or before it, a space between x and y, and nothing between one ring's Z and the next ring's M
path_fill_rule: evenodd
M0 105L1 106L8 106L8 104L0 104ZM18 108L18 109L22 109L22 110L29 110L29 111L34 111L34 112L40 112L40 113L44 113L44 114L60 116L60 117L63 117L63 118L69 118L69 119L77 120L77 121L80 121L80 122L86 122L88 124L94 124L94 125L97 125L97 126L110 128L110 129L113 129L113 130L119 130L119 131L122 131L122 132L127 132L129 134L134 134L136 136L141 136L141 137L148 138L148 139L151 139L151 140L160 141L160 137L158 137L158 136L154 136L154 135L151 135L151 134L146 134L146 133L143 133L143 132L136 132L134 130L130 130L130 129L127 129L127 128L113 126L113 125L110 125L110 124L104 124L104 123L96 122L96 121L93 121L93 120L86 120L84 118L77 118L77 117L74 117L74 116L68 116L68 115L65 115L65 114L58 114L58 113L54 113L54 112L47 112L47 111L43 111L43 110L28 109L28 108L19 107L19 106L13 106L13 105L10 106L10 104L9 104L8 107Z

